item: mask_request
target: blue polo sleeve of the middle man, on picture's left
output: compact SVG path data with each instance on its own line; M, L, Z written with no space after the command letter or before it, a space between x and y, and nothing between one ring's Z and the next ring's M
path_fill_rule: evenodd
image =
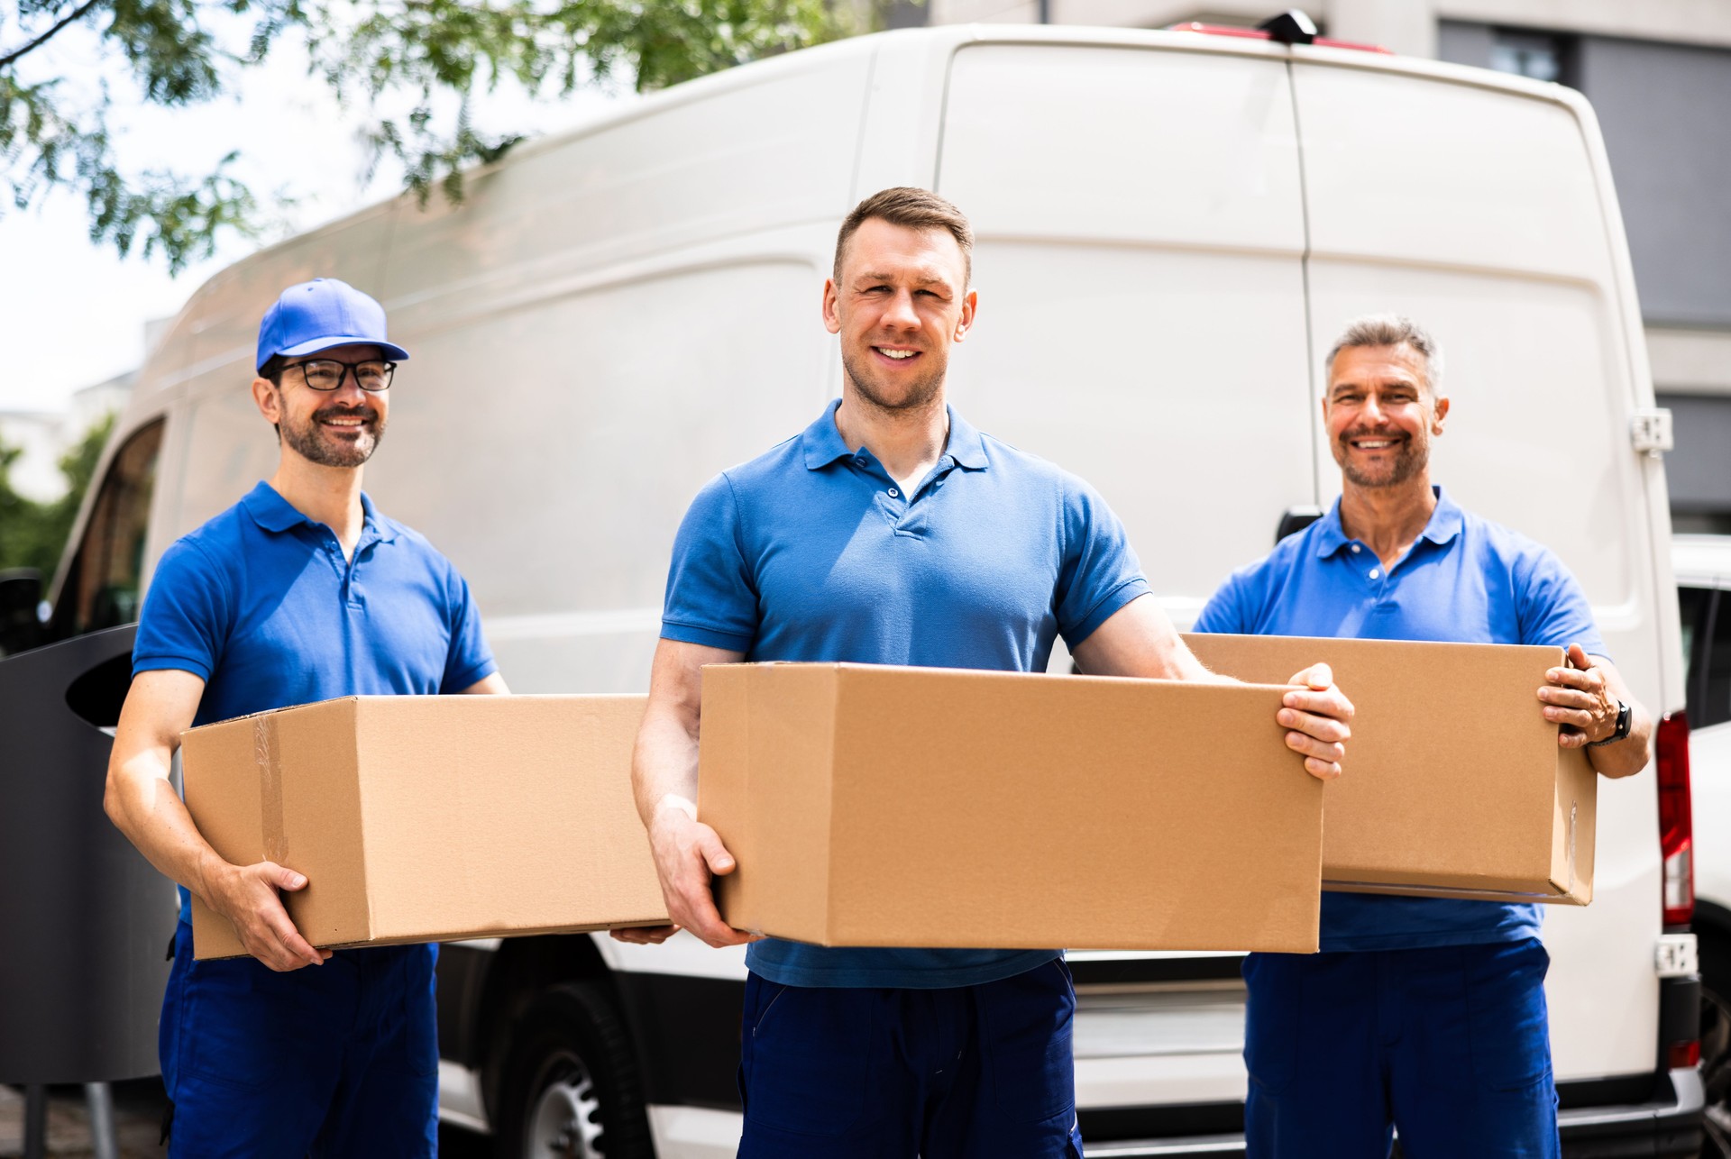
M661 638L750 652L758 599L741 545L739 498L725 474L698 491L673 538Z

